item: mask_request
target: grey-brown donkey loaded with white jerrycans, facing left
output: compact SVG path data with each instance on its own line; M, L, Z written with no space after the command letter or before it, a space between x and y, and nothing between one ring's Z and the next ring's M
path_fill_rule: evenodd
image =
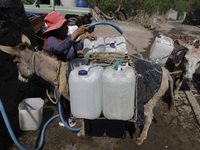
M52 84L52 86L56 87L65 98L69 99L69 87L66 78L69 62L61 62L55 56L50 56L46 52L33 51L31 48L30 40L25 35L22 35L21 40L22 43L16 47L0 45L0 49L2 51L16 56L14 61L17 64L20 76L27 80L33 74L36 74L37 76ZM174 106L174 98L172 95L172 78L167 69L161 67L160 70L161 82L158 91L144 104L144 127L140 136L137 138L136 143L138 145L141 145L147 138L147 132L153 119L153 109L158 103L158 100L166 93L170 87L170 108ZM78 135L85 135L84 128L78 133Z

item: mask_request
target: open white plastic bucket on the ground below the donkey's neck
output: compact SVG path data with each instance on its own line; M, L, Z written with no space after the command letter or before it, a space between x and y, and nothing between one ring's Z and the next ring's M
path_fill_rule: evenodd
M43 115L44 101L41 98L26 98L18 107L19 127L21 130L37 130Z

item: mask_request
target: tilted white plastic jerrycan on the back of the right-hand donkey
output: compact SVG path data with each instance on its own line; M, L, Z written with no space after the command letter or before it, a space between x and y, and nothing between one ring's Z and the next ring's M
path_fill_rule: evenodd
M150 50L150 60L164 66L168 57L174 49L174 42L171 38L164 35L158 35Z

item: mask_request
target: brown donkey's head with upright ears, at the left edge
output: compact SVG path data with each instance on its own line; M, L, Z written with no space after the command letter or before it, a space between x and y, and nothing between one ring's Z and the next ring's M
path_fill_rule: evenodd
M0 45L0 50L2 50L5 53L16 56L14 62L16 62L17 64L19 72L19 80L27 82L28 79L34 73L34 68L32 64L34 58L34 51L33 48L31 47L30 40L25 35L22 35L21 44L15 47Z

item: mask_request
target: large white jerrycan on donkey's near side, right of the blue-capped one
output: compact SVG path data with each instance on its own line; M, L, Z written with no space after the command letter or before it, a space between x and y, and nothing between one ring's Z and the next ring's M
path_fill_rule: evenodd
M134 115L135 71L130 66L103 72L103 114L108 119L129 120Z

